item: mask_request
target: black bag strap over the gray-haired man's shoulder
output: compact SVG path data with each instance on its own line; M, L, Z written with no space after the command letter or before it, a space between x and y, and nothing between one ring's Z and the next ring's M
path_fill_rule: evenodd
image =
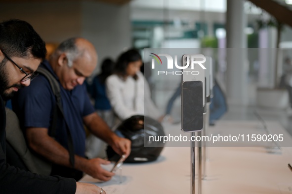
M54 107L54 112L53 112L53 119L52 119L52 124L50 127L50 132L49 135L51 137L55 137L56 136L56 129L57 129L57 121L58 121L58 117L62 116L64 118L64 121L66 123L66 131L67 131L67 135L68 135L68 149L69 149L69 156L70 156L70 163L72 164L72 166L74 167L74 145L73 145L73 140L72 140L72 135L69 129L69 125L64 117L64 111L62 108L62 101L61 101L61 92L60 92L60 86L58 81L54 78L54 76L45 68L43 67L39 67L37 70L38 73L41 73L42 75L44 75L47 80L50 83L50 86L53 90L53 93L55 95L56 98L56 106Z

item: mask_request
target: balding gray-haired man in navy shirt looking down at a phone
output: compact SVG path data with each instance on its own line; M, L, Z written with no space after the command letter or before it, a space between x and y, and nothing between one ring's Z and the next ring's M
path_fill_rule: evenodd
M102 181L114 175L101 167L109 161L95 158L87 160L85 154L85 131L83 126L111 145L120 155L130 153L130 141L117 136L97 115L90 103L83 84L97 64L94 46L84 38L70 38L62 42L41 66L58 80L64 118L58 118L55 138L48 135L52 126L56 99L48 80L40 75L30 87L19 91L12 101L13 110L25 129L29 146L50 162L51 175L79 180L83 172ZM28 116L29 115L29 116ZM67 132L68 129L70 132ZM71 133L71 134L68 134ZM74 159L70 157L73 142Z

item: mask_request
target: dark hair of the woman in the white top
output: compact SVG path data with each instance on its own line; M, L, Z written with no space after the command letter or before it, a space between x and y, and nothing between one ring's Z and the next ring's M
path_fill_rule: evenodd
M129 63L136 62L142 60L141 55L136 49L130 49L120 55L118 58L116 67L115 67L115 73L118 75L121 75L123 77L126 76L126 68ZM135 77L134 77L135 78Z

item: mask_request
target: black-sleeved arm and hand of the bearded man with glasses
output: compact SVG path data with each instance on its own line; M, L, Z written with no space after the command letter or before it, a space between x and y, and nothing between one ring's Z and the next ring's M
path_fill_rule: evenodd
M71 178L42 176L0 162L0 188L3 194L100 194L101 188L78 183ZM103 191L103 194L106 194Z

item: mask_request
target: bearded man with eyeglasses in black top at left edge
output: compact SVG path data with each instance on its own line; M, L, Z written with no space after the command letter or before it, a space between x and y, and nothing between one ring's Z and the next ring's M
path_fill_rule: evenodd
M94 185L60 176L42 176L6 163L4 101L29 86L45 58L42 38L25 21L0 23L0 193L1 194L105 194Z

